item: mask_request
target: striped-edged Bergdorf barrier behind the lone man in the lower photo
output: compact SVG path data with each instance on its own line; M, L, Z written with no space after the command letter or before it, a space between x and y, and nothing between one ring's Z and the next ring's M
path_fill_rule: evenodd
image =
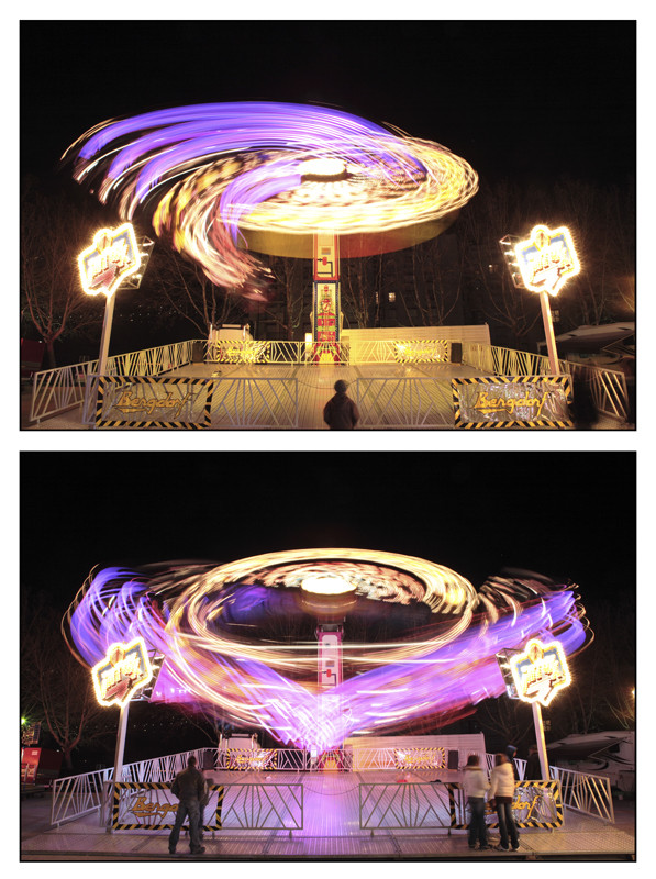
M159 793L159 791L165 791ZM212 805L212 821L203 824L205 831L220 831L222 828L221 811L225 790L223 785L210 785L210 802ZM212 800L216 792L216 805ZM129 803L125 800L129 799ZM133 815L136 821L125 822L120 820L120 810ZM205 806L207 810L208 806ZM114 785L112 802L112 828L115 831L170 831L174 826L178 803L170 793L169 781L121 781ZM174 821L166 819L171 816ZM184 825L186 828L187 825Z

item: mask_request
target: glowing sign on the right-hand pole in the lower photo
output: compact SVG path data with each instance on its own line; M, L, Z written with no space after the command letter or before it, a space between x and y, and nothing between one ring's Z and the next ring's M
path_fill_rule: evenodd
M519 698L548 705L556 693L571 682L565 652L559 642L533 639L523 653L509 657Z

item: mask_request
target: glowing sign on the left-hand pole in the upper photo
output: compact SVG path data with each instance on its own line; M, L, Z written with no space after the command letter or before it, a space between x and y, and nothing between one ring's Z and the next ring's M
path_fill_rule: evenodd
M125 278L134 275L141 266L132 224L99 230L93 236L93 244L78 256L78 266L86 293L112 296Z

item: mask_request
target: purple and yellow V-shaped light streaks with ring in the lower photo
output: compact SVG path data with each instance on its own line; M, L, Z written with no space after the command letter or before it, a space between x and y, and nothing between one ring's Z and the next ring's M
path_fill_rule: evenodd
M345 641L344 665L356 674L326 696L316 685L315 642L256 643L230 634L227 617L242 596L253 612L249 583L266 583L277 607L308 576L355 583L367 609L424 604L433 621L383 644ZM94 665L109 644L141 635L166 657L155 699L173 691L173 701L213 706L312 750L371 725L391 730L418 716L469 713L504 692L496 660L501 649L557 637L571 654L586 642L582 609L569 587L494 577L476 591L424 559L357 549L275 553L220 567L109 568L88 578L64 622L69 647L85 664ZM320 711L322 702L331 710Z

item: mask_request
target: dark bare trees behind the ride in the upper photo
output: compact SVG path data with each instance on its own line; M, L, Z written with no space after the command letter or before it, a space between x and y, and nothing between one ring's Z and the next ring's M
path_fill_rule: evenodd
M35 178L23 180L22 327L24 334L45 342L48 366L55 364L57 343L100 338L103 298L85 296L77 276L77 254L100 223L111 225L115 218L104 215L88 196L62 187L46 191ZM488 323L494 344L535 351L543 337L537 297L513 287L499 242L508 234L527 235L537 223L567 225L582 266L553 305L558 312L557 332L634 316L632 185L482 181L440 237L396 253L342 262L344 326ZM138 331L136 347L177 341L171 338L174 326L180 338L207 337L210 324L245 320L251 320L257 337L301 340L310 330L309 263L264 259L276 282L270 301L254 309L233 290L210 283L166 242L157 242L140 290L119 292L115 323L119 329L130 323Z

